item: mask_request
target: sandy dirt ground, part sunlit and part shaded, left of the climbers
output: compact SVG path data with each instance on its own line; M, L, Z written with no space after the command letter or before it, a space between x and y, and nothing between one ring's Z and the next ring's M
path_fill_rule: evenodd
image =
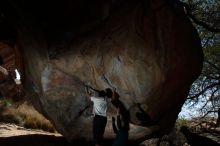
M105 140L104 146L111 146L113 140ZM135 146L129 142L128 146ZM41 130L0 123L0 146L92 146L91 141L74 140L68 142L59 133L48 133Z

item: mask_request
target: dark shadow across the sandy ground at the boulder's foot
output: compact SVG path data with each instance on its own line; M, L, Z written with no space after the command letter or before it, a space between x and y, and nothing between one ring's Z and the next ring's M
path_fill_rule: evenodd
M111 146L113 140L105 140L104 146ZM1 137L1 146L93 146L91 141L74 140L68 142L64 137L53 135L21 135L12 137ZM128 142L127 146L137 146L134 142Z

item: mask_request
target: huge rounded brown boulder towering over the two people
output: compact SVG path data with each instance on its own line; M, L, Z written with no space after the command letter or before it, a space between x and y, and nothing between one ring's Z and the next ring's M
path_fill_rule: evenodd
M87 82L96 89L116 88L131 115L131 139L168 132L203 61L198 34L183 8L165 0L67 0L56 7L45 14L50 20L33 13L17 22L25 88L36 108L69 140L91 139ZM116 113L111 103L108 112L105 136L110 138ZM150 126L145 113L153 120Z

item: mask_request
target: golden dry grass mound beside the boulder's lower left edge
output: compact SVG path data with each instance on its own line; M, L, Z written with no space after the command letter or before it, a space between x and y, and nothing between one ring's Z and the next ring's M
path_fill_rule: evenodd
M14 123L25 128L42 129L48 132L56 131L49 120L26 102L19 106L1 105L0 122Z

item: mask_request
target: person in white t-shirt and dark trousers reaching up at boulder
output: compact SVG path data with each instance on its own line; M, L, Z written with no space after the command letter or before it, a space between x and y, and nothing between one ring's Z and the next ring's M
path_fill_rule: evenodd
M93 142L95 146L103 143L103 135L107 124L107 106L108 98L112 97L111 89L98 91L98 96L91 96L87 90L89 101L93 102Z

